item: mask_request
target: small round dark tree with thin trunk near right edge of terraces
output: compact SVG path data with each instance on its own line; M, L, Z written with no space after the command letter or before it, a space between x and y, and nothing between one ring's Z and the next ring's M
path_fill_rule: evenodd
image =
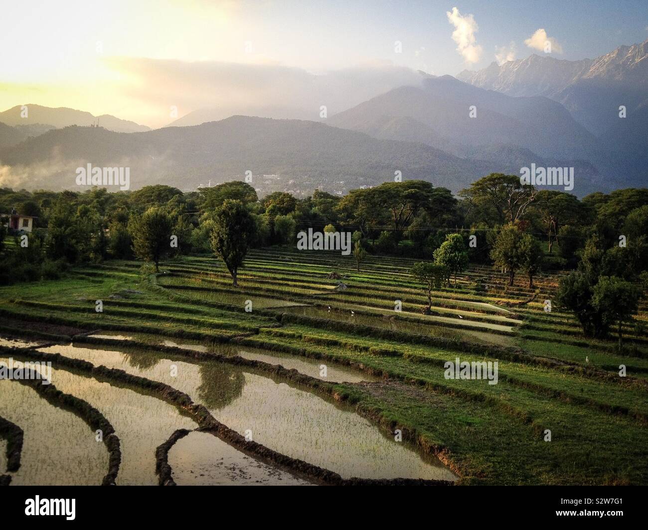
M601 276L594 286L592 306L610 325L618 324L619 349L623 323L632 320L642 296L640 289L616 276Z

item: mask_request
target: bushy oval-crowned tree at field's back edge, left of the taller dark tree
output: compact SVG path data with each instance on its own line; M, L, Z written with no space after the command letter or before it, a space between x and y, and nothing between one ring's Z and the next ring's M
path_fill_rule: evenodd
M156 272L159 272L159 261L172 249L173 225L169 214L159 207L152 207L141 216L135 217L128 226L135 255L145 261L154 262Z

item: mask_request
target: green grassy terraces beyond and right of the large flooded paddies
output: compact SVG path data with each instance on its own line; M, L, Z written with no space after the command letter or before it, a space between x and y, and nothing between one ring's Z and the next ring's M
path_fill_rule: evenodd
M211 257L168 261L147 278L139 262L106 262L0 288L2 330L139 333L351 365L382 382L336 392L434 448L463 483L648 483L648 341L636 327L625 330L631 355L621 355L613 338L584 338L572 315L544 312L559 275L540 275L535 299L517 305L535 290L523 279L507 288L506 275L481 266L435 292L424 316L412 263L369 257L358 272L352 257L263 249L233 288ZM645 305L636 319L647 319ZM456 357L497 360L498 384L446 380L443 363Z

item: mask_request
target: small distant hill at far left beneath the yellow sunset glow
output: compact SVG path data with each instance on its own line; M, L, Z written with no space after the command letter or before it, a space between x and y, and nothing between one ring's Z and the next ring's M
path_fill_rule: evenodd
M89 112L69 109L65 107L51 108L41 105L25 105L27 117L21 117L23 108L20 105L0 112L0 122L7 125L34 125L47 124L56 128L67 127L68 125L88 126L98 124L108 130L115 132L143 132L150 130L145 125L139 125L133 121L121 120L110 114L94 116Z

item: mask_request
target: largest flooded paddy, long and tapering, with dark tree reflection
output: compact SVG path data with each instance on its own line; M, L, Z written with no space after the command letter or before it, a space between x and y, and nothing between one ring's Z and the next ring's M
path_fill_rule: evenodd
M159 359L153 353L74 346L45 351L165 382L205 405L218 421L242 435L251 435L254 441L275 451L338 472L344 478L454 479L437 459L424 461L353 411L262 374L224 363Z

